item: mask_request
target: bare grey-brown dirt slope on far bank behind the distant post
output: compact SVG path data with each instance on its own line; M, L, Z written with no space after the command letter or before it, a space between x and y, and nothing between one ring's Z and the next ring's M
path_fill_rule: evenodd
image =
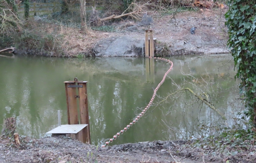
M229 53L226 45L228 40L225 27L226 8L200 9L180 13L164 13L163 11L148 11L153 18L148 26L138 26L140 22L125 20L115 25L121 33L108 33L109 37L129 35L142 39L144 30L154 30L157 45L163 45L170 50L169 55ZM195 34L190 29L195 27ZM160 52L161 49L158 49Z

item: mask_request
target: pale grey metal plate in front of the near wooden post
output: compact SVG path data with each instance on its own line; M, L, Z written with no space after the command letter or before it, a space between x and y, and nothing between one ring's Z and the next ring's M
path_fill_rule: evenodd
M46 132L46 133L78 133L83 128L85 128L88 124L80 124L80 125L60 125L57 128Z

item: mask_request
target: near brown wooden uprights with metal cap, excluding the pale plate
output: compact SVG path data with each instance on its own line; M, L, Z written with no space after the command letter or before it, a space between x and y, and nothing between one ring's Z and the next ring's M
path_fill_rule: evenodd
M82 132L79 132L77 139L81 142L91 144L86 87L87 81L78 81L78 79L75 78L74 81L65 81L64 83L68 108L68 124L88 124L82 129ZM76 94L76 88L78 88L78 95ZM79 101L80 123L78 118L77 100ZM71 137L73 136L74 135L71 134Z

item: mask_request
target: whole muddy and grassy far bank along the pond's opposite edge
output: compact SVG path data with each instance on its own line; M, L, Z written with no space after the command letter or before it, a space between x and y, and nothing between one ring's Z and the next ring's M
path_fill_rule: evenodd
M155 56L229 53L225 10L197 10L164 14L148 11L150 24L122 20L85 33L79 28L44 18L26 22L28 29L0 39L0 48L15 45L19 55L56 57L129 56L145 54L145 30L154 30ZM191 28L194 27L194 34ZM104 29L111 31L104 31Z

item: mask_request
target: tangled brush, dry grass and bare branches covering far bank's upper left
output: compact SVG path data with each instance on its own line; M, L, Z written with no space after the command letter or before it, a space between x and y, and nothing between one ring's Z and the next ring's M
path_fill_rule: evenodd
M80 4L80 9L70 10L69 8L77 2ZM46 15L34 12L34 16L32 16L31 11L29 11L31 9L29 1L24 1L24 13L20 13L17 12L17 6L20 2L1 0L0 16L3 16L0 24L0 48L13 46L16 48L16 53L22 55L92 56L94 55L93 46L99 39L115 35L111 33L106 36L106 32L128 33L126 29L116 28L118 22L129 27L134 25L134 22L140 21L143 14L146 13L151 13L152 16L155 15L158 18L163 14L171 14L175 17L175 14L179 12L197 11L197 8L214 8L217 4L211 3L210 6L200 6L194 3L181 4L176 1L167 2L165 0L106 0L94 2L89 10L88 6L87 9L85 5L81 6L85 3L84 0L77 2L64 0L60 2L60 11ZM222 6L219 7L223 8ZM4 16L5 14L6 16Z

